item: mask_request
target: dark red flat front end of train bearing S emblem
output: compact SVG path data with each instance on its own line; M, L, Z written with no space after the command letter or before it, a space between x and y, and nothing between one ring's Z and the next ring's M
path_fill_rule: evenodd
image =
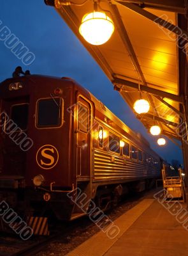
M1 83L0 202L19 216L69 220L73 173L73 83L18 76Z

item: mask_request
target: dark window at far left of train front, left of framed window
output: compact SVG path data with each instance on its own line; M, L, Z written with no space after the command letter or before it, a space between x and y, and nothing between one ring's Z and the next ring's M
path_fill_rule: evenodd
M28 111L29 104L19 104L11 107L11 120L13 120L22 131L27 129Z

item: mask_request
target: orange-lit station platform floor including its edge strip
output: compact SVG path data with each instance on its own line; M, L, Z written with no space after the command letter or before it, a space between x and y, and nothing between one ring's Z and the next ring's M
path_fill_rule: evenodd
M115 238L99 231L67 256L187 256L187 205L149 197L113 222L120 228Z

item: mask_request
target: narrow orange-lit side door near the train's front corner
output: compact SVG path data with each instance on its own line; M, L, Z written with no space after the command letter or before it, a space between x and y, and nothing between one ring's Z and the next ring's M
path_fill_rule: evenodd
M90 177L90 103L78 97L77 108L77 177L78 179L89 179Z

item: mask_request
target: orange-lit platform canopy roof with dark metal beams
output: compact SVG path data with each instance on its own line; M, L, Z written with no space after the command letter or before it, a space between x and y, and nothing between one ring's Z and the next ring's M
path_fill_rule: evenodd
M52 4L53 1L46 1ZM54 2L57 12L98 62L127 104L143 99L150 111L138 115L149 129L157 124L162 133L180 140L178 126L184 122L184 44L187 13L184 0L98 1L113 20L115 30L108 42L94 46L79 33L82 17L93 12L94 2L74 0ZM65 5L68 4L68 5ZM140 91L139 91L140 90Z

